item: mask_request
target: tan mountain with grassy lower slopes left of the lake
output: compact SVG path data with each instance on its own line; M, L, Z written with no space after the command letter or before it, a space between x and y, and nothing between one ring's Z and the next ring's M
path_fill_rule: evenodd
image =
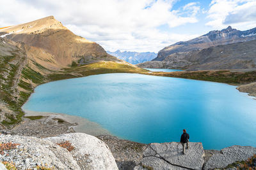
M54 17L0 28L0 129L22 120L37 85L102 73L147 72L76 36Z

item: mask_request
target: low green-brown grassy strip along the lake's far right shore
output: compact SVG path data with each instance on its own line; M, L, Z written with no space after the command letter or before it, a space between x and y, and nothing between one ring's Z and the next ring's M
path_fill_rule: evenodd
M147 73L155 76L170 76L194 80L215 81L239 85L256 81L256 71L179 71L171 73Z

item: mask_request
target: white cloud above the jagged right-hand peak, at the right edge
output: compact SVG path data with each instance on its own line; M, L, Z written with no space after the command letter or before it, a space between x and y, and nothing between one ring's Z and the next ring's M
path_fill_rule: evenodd
M211 25L218 29L232 25L237 29L252 29L256 27L255 0L214 0L208 11Z

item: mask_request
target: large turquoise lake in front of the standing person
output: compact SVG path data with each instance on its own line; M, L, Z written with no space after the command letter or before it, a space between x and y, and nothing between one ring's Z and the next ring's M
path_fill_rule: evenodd
M84 117L140 143L179 141L187 129L205 149L256 146L256 100L223 83L99 74L40 85L22 109Z

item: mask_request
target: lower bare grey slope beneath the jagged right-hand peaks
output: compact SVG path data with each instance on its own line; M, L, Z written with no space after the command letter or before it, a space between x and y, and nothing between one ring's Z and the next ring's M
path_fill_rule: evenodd
M163 61L137 64L140 67L212 70L256 69L256 40L219 45L191 52L172 53Z

